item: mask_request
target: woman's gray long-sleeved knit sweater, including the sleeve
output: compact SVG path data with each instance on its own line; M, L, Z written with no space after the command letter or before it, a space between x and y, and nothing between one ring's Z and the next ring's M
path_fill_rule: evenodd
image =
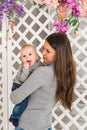
M47 130L51 126L56 86L53 64L51 64L36 69L20 88L11 93L13 104L18 104L31 95L29 104L19 121L19 127L24 130Z

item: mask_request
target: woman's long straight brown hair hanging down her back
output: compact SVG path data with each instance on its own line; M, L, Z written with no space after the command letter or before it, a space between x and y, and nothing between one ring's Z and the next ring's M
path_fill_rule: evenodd
M71 110L74 86L76 83L76 67L68 37L63 33L53 33L46 41L56 50L54 73L57 78L56 99L65 108Z

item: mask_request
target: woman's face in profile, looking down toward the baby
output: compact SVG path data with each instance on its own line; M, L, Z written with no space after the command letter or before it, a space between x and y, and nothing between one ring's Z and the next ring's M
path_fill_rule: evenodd
M56 51L51 47L51 45L45 41L43 49L43 60L45 64L50 64L56 59Z

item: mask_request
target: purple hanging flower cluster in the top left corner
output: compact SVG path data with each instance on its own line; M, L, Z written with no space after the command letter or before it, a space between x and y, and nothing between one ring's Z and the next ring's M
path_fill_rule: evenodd
M17 4L17 0L2 0L0 1L0 30L2 28L3 15L6 13L9 22L15 16L21 16L24 10L23 7Z

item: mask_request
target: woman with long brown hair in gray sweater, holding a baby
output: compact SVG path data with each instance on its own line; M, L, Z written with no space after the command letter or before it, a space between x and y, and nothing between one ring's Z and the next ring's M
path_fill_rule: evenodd
M19 121L19 128L23 130L48 130L57 101L71 110L76 73L70 42L65 34L53 33L46 38L43 60L45 66L35 70L20 88L11 93L14 104L31 95Z

